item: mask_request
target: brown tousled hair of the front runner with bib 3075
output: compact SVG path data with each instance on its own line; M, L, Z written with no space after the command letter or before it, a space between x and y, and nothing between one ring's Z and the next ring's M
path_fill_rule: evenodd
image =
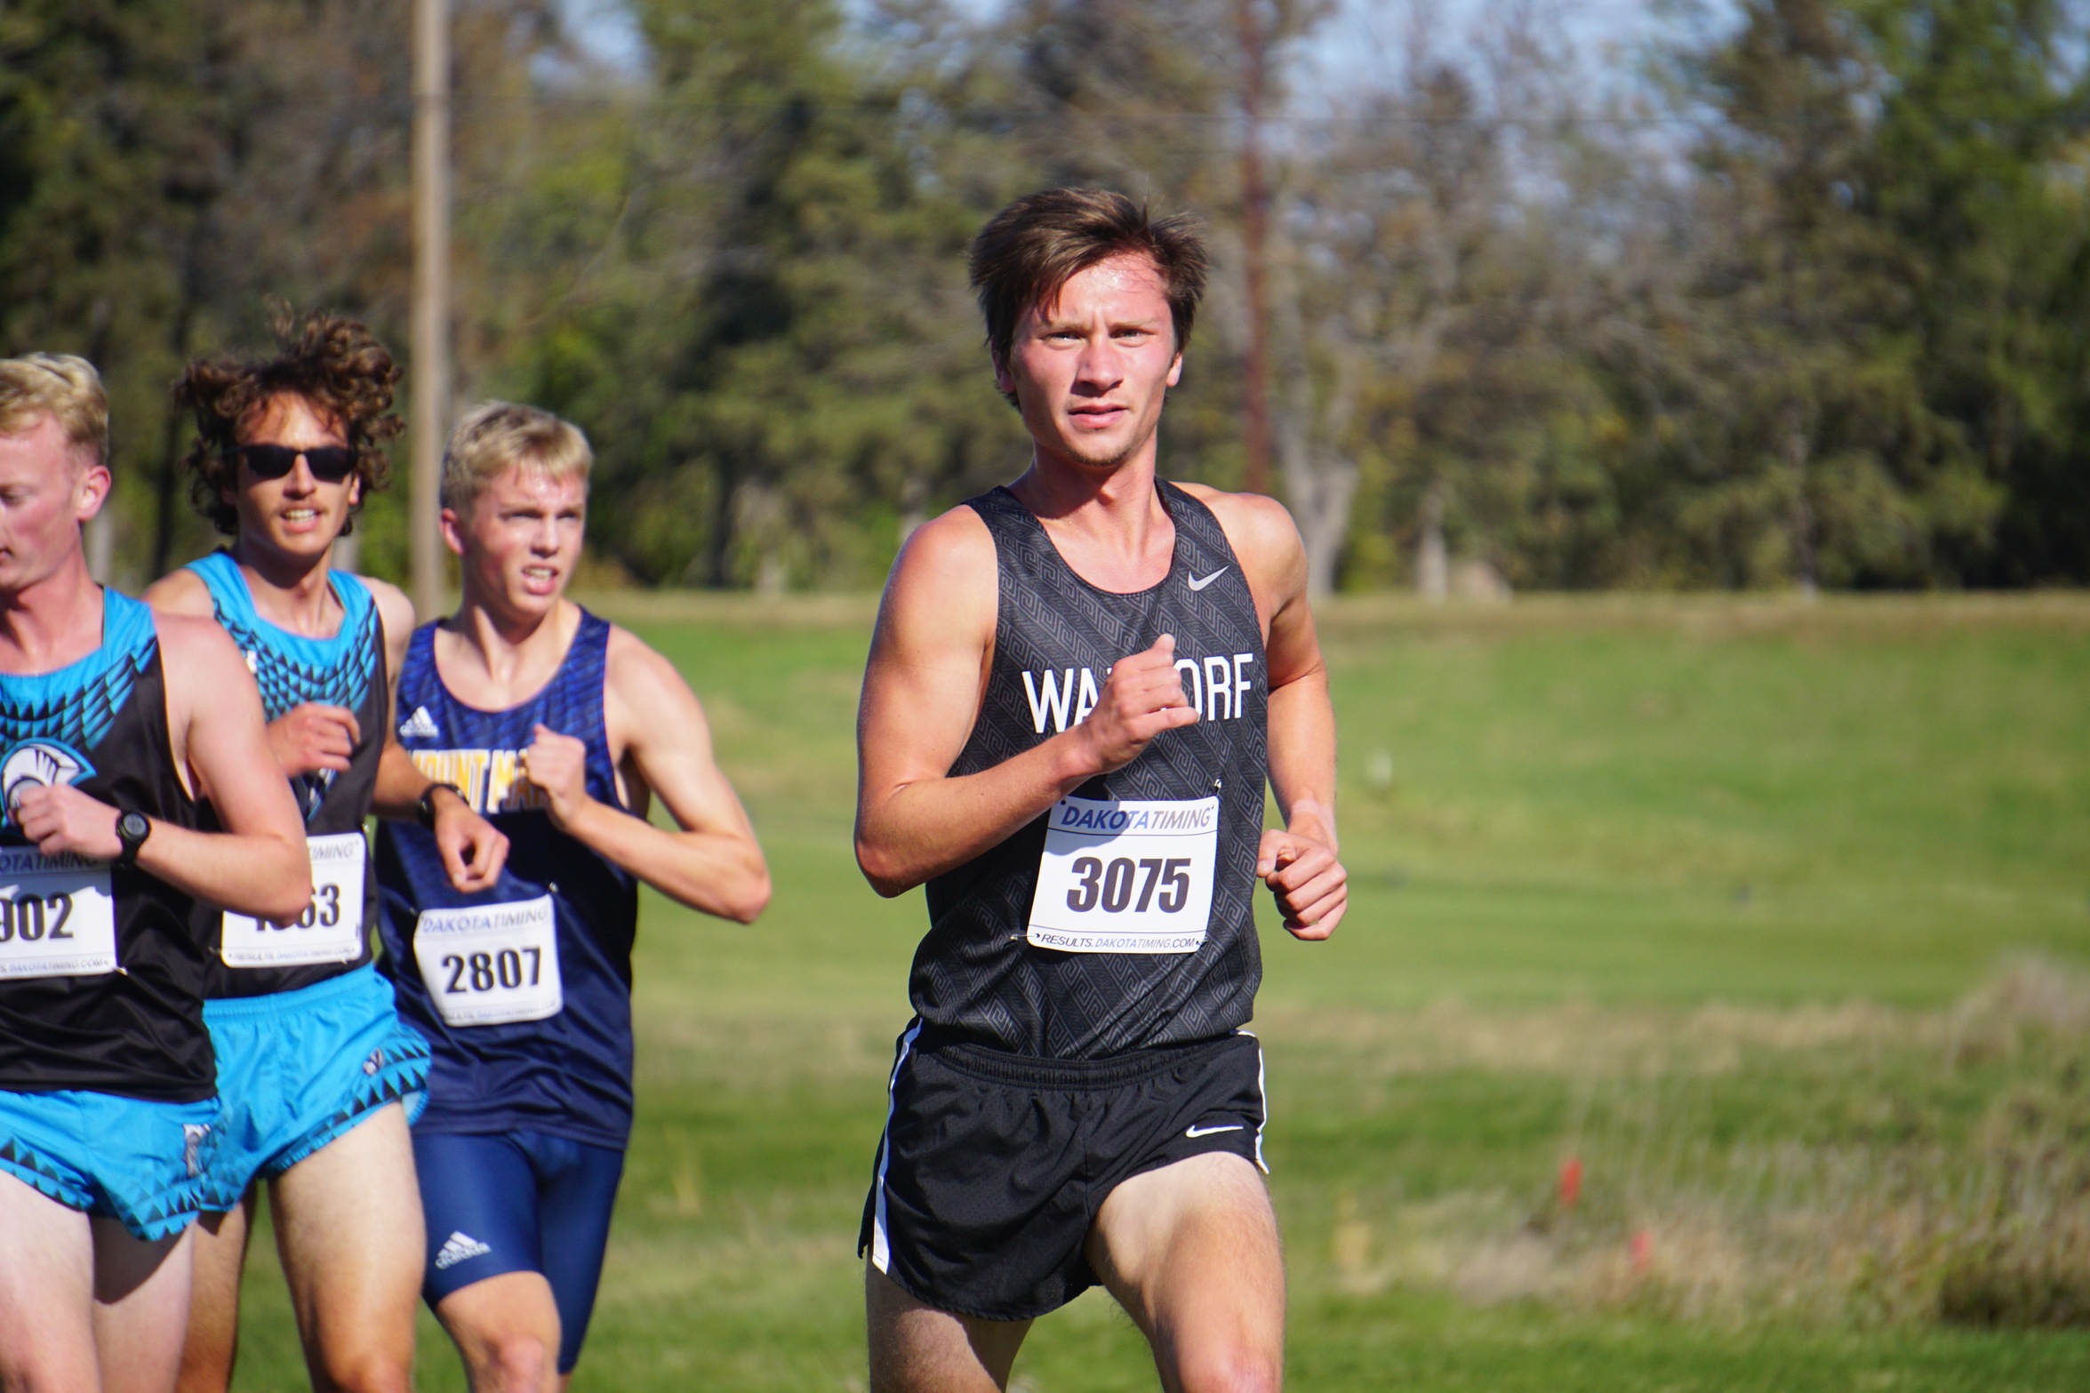
M1160 271L1181 353L1210 269L1193 217L1152 217L1143 203L1108 188L1047 188L995 213L966 259L995 368L1007 368L1026 309L1051 305L1076 274L1124 253L1145 255Z

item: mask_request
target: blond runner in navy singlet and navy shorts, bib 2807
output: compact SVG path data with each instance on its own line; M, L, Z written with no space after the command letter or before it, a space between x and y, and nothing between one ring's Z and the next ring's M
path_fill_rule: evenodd
M414 1157L426 1297L479 1389L571 1374L631 1132L640 881L742 923L769 873L675 668L564 599L587 441L531 407L474 409L443 459L464 595L414 633L397 733L510 840L460 894L428 833L378 840L399 1013L433 1044ZM677 831L646 821L658 796Z

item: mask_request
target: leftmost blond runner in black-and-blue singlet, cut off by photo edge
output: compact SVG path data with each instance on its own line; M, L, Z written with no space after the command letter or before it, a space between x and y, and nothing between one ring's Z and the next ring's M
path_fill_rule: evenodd
M109 405L0 361L0 1387L173 1387L217 1128L192 900L311 900L261 698L217 624L88 574ZM224 831L199 831L209 798Z

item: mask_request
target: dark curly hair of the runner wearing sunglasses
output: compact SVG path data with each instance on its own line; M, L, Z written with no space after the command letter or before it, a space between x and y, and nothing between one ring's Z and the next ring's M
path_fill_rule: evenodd
M330 313L276 313L274 357L203 357L173 384L173 405L196 416L196 443L182 466L188 497L219 533L240 530L238 510L226 493L238 491L240 428L276 397L303 397L334 424L355 451L362 499L391 480L385 441L405 422L391 409L399 365L368 326ZM355 528L353 510L343 535Z

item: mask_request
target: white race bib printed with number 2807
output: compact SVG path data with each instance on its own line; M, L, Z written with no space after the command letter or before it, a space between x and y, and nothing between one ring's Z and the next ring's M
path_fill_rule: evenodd
M424 908L414 961L445 1025L541 1021L566 1005L552 896Z

